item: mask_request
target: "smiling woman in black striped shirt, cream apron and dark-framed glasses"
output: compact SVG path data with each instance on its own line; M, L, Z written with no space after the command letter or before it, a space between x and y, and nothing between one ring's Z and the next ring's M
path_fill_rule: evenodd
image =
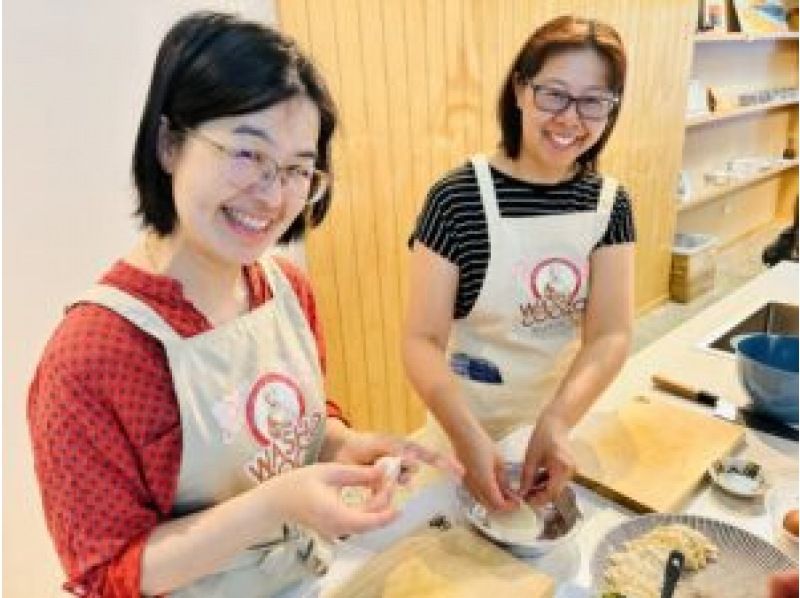
M498 150L435 183L411 237L406 369L491 509L559 495L568 432L628 351L630 201L596 170L625 69L606 24L564 16L536 30L500 93ZM512 490L495 441L525 424Z

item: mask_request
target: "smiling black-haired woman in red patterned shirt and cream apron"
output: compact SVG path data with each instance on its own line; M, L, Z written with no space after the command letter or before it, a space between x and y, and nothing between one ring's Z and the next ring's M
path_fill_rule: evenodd
M272 29L200 13L162 42L133 159L141 241L71 305L30 387L71 592L272 595L325 570L327 539L393 520L377 460L401 482L457 468L344 425L309 282L259 262L322 222L335 125Z

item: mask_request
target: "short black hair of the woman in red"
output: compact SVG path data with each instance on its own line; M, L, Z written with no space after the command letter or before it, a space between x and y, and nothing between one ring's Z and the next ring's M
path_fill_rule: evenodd
M218 12L196 12L178 21L161 42L136 137L133 178L142 225L168 235L177 220L172 177L158 158L162 116L169 122L170 138L182 142L188 130L205 121L263 110L297 96L308 97L319 109L316 167L332 175L336 107L322 76L295 42L270 27ZM320 224L331 192L329 185L279 242L302 238L307 223Z

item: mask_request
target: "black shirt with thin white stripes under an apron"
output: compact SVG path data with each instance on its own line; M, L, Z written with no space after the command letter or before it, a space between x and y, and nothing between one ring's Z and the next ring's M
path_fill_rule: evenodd
M597 209L602 178L579 173L552 185L529 183L490 166L500 216L519 218L552 216ZM436 182L428 192L409 244L419 241L458 266L455 318L469 314L478 299L489 264L489 230L478 179L470 162ZM615 245L635 240L628 193L617 189L605 235L597 244Z

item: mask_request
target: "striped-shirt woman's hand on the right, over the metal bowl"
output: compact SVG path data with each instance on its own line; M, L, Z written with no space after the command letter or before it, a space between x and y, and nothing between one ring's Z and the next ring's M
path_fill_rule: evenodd
M575 472L569 427L557 416L543 414L528 441L520 480L520 496L541 506L555 500Z

